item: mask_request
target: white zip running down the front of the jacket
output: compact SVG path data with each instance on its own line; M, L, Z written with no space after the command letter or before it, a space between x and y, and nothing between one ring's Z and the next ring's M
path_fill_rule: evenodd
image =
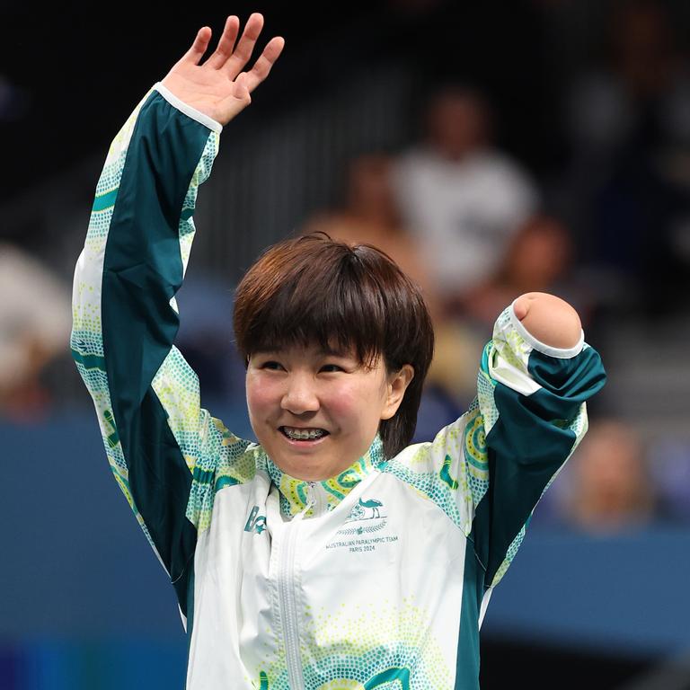
M290 690L304 690L305 677L302 674L302 659L299 653L299 630L297 628L297 606L295 597L295 548L299 523L305 513L314 505L314 491L310 491L305 509L297 513L285 526L283 542L280 547L280 573L278 598L280 620L285 640L285 659L288 666L288 685Z

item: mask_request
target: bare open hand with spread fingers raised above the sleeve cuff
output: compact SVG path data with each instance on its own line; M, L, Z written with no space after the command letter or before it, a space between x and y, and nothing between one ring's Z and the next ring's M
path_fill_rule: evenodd
M285 45L280 36L272 38L252 69L243 71L263 28L263 16L253 13L244 26L239 42L239 17L226 20L216 50L200 65L208 49L212 31L204 26L197 32L191 48L164 77L162 84L181 101L226 125L252 102L252 91L269 75Z

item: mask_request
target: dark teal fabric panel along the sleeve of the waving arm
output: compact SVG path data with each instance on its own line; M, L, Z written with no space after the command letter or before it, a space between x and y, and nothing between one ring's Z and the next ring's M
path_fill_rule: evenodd
M208 128L150 95L128 146L102 281L105 367L129 488L183 613L185 568L196 545L185 517L192 477L151 382L179 327L170 305L182 283L178 224L207 139Z

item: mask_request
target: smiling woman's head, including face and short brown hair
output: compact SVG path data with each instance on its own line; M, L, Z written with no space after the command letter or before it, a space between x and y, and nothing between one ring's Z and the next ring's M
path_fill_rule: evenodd
M281 425L329 429L329 421L331 438L308 450L315 462L317 446L329 446L330 472L355 462L377 432L387 457L410 444L434 332L420 288L385 252L323 232L274 244L237 287L234 333L252 429L263 447L274 439L267 449L279 466L297 447ZM323 371L332 366L341 371Z

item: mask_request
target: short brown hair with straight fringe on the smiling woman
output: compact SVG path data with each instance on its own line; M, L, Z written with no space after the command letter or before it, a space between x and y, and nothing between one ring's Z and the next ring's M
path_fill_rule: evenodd
M410 444L434 332L420 288L385 252L323 231L273 244L237 286L234 336L244 367L259 349L311 343L351 349L365 367L383 355L389 375L410 364L403 402L379 424L386 457Z

